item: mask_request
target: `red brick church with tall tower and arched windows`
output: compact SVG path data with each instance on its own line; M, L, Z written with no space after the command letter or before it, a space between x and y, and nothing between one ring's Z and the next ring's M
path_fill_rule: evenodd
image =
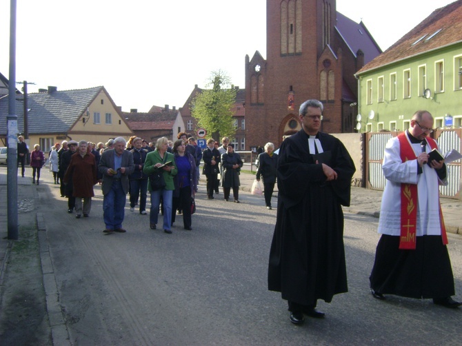
M267 59L245 57L246 146L279 147L301 129L307 99L324 104L321 131L354 132L354 73L381 53L363 22L337 12L335 0L267 0L266 32Z

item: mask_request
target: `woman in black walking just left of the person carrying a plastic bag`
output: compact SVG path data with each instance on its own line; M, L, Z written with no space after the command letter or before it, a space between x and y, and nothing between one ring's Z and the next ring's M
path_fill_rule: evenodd
M223 194L225 194L225 201L230 199L230 190L232 187L232 195L234 203L239 203L239 174L243 165L241 156L234 152L234 145L228 144L225 154L221 155L221 165L223 166L223 178L221 186L223 186Z

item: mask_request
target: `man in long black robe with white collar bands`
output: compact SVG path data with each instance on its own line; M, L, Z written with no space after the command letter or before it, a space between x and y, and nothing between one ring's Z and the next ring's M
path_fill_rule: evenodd
M354 163L339 139L319 132L323 104L300 107L302 130L279 150L277 221L270 250L268 289L289 303L290 321L322 318L318 299L330 303L348 291L343 212L350 205Z

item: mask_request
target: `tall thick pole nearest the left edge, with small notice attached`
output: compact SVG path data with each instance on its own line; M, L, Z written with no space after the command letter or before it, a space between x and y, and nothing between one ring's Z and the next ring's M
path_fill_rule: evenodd
M16 0L10 0L10 77L7 116L8 239L18 239L18 116L16 115Z

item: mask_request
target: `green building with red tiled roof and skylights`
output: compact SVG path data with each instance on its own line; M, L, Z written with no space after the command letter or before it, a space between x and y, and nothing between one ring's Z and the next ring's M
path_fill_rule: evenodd
M406 130L416 110L428 110L436 129L461 128L462 0L434 10L355 76L360 132Z

